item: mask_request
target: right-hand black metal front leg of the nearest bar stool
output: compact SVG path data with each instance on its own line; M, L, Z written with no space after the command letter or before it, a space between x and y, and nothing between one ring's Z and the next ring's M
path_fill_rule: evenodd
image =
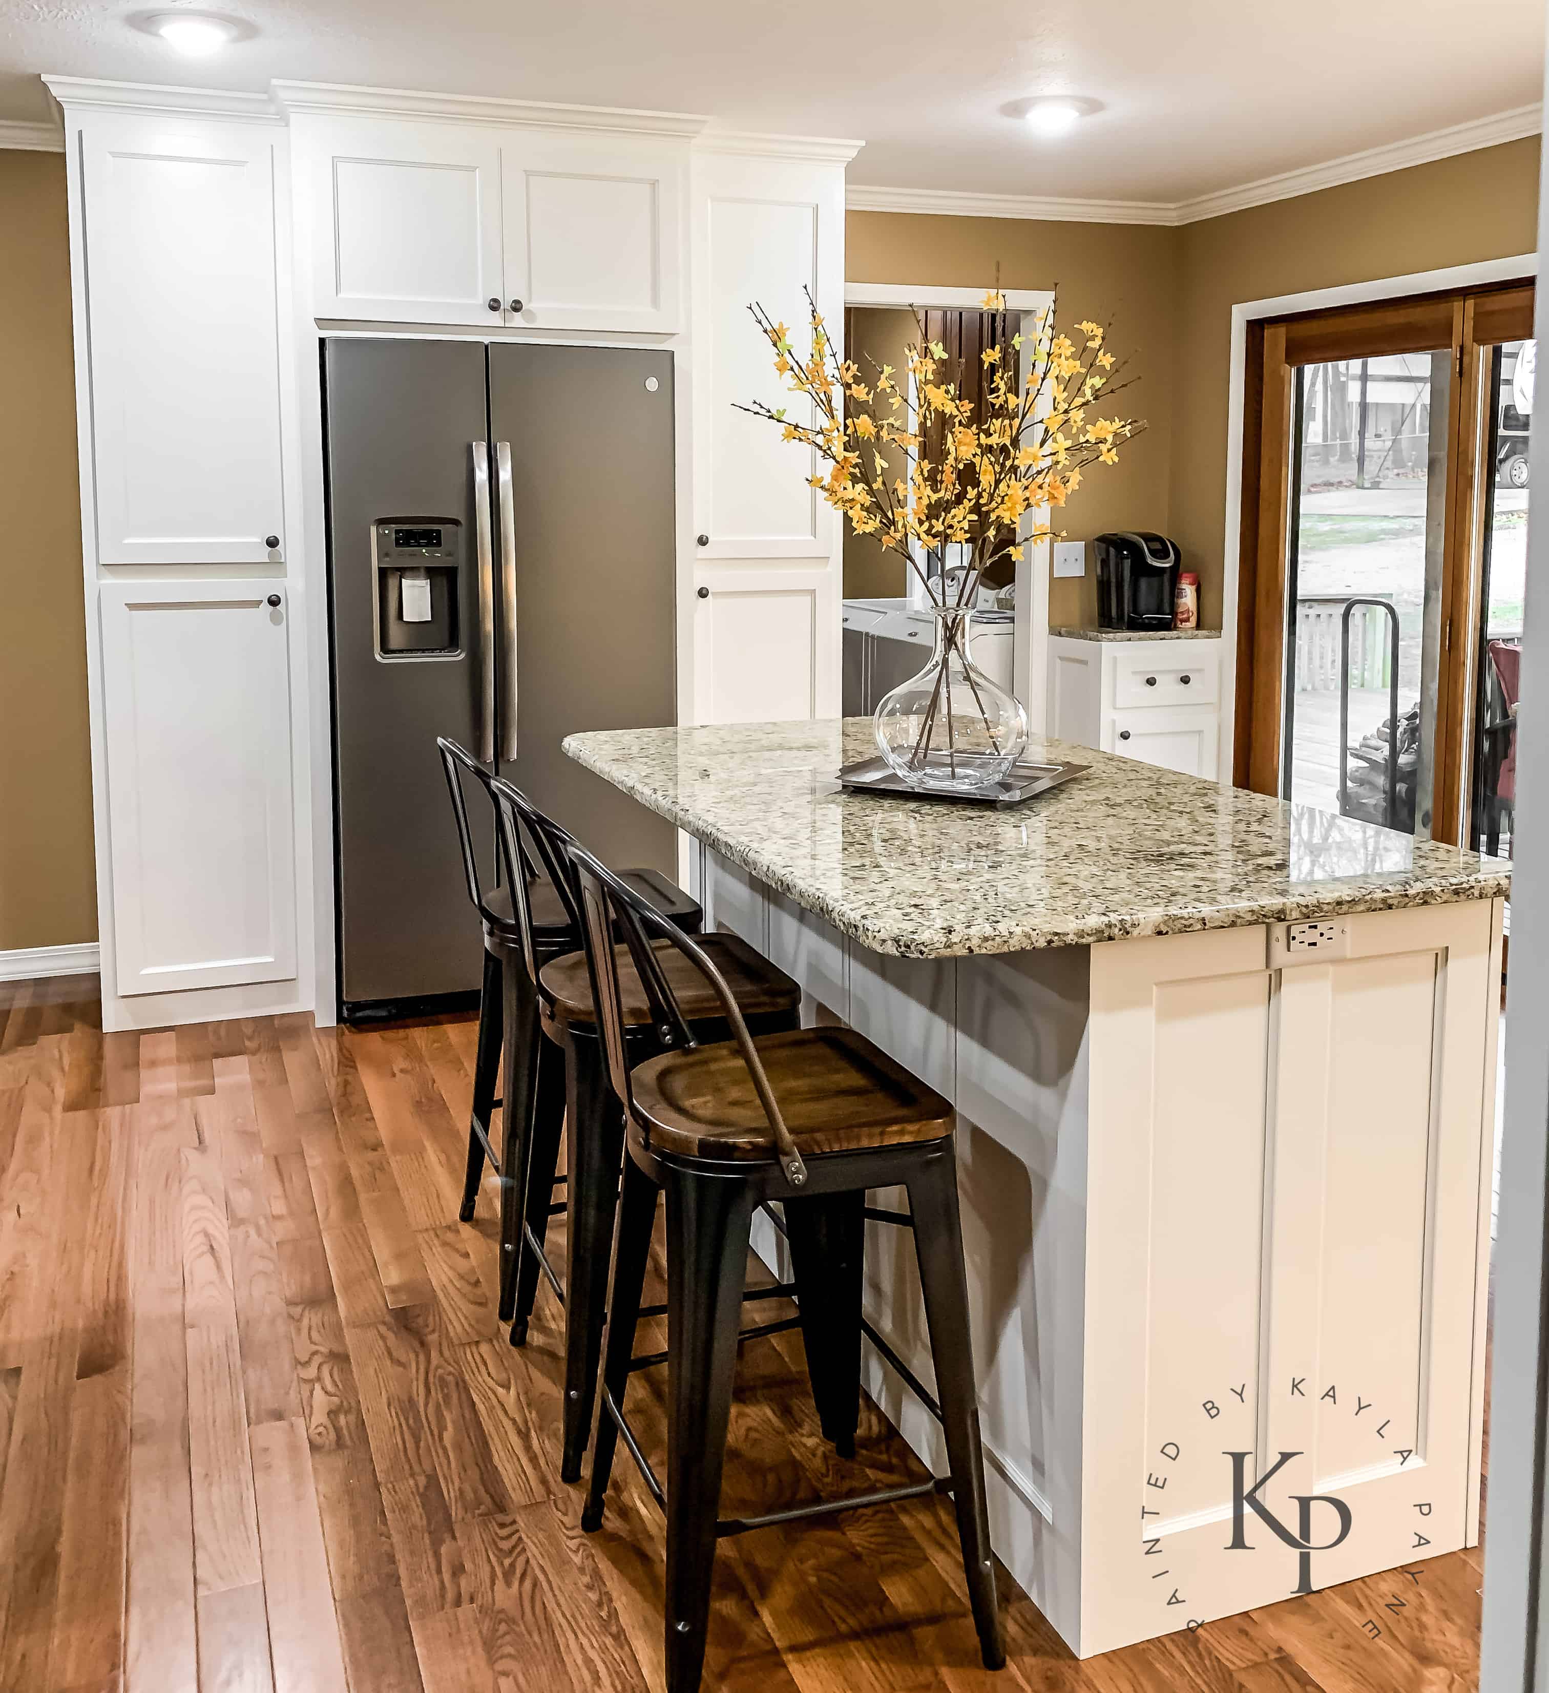
M907 1187L968 1600L973 1607L973 1625L978 1630L978 1651L985 1669L999 1669L1006 1663L1006 1647L1001 1641L1001 1615L995 1610L995 1563L984 1497L973 1343L968 1337L968 1280L963 1275L963 1229L958 1216L956 1163L950 1141L943 1150L921 1160Z

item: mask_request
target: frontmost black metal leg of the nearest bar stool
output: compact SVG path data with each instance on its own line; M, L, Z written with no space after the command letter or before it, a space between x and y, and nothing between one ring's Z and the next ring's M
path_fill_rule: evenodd
M667 1173L667 1693L704 1674L752 1190Z

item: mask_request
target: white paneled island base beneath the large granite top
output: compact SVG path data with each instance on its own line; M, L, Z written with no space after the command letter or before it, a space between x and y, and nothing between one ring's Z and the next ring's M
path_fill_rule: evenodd
M1315 1497L1319 1546L1348 1508L1319 1588L1476 1544L1498 901L1344 918L1285 968L1263 924L904 960L701 852L708 923L956 1107L995 1552L1080 1657L1293 1591L1258 1519L1224 1551L1231 1451L1248 1485L1295 1454L1260 1497L1293 1532ZM868 1226L865 1287L929 1385L901 1231ZM870 1349L867 1385L943 1473Z

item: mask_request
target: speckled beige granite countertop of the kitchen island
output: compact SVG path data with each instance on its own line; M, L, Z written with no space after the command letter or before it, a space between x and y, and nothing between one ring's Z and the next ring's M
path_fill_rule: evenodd
M1503 896L1510 865L1070 742L1012 811L846 794L870 718L571 735L565 752L874 951L1077 946Z

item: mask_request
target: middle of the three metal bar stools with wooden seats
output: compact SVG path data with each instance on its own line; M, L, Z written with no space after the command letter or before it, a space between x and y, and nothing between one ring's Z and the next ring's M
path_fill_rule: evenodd
M494 779L501 835L515 858L530 846L565 902L567 914L581 926L579 889L569 852L576 845L571 833L543 816L510 782ZM608 1256L613 1246L613 1222L618 1209L618 1182L623 1168L625 1126L618 1100L608 1087L604 1056L598 1034L591 979L586 955L572 951L538 963L537 929L518 887L518 928L532 929L533 945L523 950L532 967L530 987L538 1006L543 1043L538 1056L538 1109L532 1119L528 1151L520 1155L525 1170L523 1224L511 1309L511 1344L521 1346L543 1275L565 1310L565 1392L564 1446L560 1478L581 1480L581 1459L591 1434L596 1403L598 1370L603 1356L603 1327L608 1299ZM638 896L637 896L638 897ZM660 913L659 913L660 916ZM665 918L662 921L667 921ZM669 924L672 926L672 924ZM763 1031L794 1029L801 1016L801 989L784 972L760 958L735 935L708 935L704 948L716 960L738 1014ZM642 985L626 948L618 960L623 982L623 1028L631 1053L645 1056L657 1050L650 994ZM701 1040L725 1040L726 1024L721 1002L706 992L692 968L669 946L648 951L647 968L670 980L689 1026ZM557 1090L564 1055L564 1126L569 1175L565 1180L565 1278L560 1282L545 1249L550 1192L557 1182L560 1112L547 1104ZM552 1207L559 1209L559 1207ZM786 1297L796 1287L760 1288L750 1299ZM858 1378L858 1359L857 1359Z

